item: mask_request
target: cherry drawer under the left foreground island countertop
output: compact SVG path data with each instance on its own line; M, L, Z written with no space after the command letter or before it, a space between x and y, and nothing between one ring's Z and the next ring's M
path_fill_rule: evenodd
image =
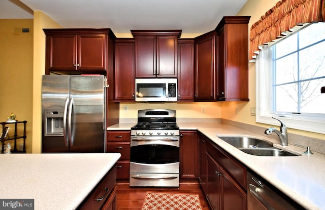
M94 188L81 209L101 209L116 184L116 167Z

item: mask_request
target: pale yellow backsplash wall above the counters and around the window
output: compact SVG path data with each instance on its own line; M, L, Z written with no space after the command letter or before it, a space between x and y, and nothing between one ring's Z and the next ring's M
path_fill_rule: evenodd
M248 28L271 9L278 0L260 1L248 0L243 8L238 12L238 16L251 16ZM217 25L217 23L216 23ZM208 31L207 31L208 32ZM182 37L196 37L200 34L184 34ZM122 36L121 36L122 37ZM255 122L255 116L250 115L251 107L255 107L255 63L249 63L249 102L209 102L209 103L173 103L173 104L139 104L139 103L120 103L120 118L136 117L138 109L151 107L177 109L177 117L192 118L224 118L248 124L255 124L262 127L270 127L267 124ZM208 105L204 105L208 104ZM124 111L124 105L127 105L129 111ZM202 113L202 106L207 106L206 113ZM236 112L238 110L238 112ZM190 114L187 114L190 113ZM272 125L273 126L273 125ZM319 138L325 140L325 135L312 132L304 132L289 129L289 132L304 136Z

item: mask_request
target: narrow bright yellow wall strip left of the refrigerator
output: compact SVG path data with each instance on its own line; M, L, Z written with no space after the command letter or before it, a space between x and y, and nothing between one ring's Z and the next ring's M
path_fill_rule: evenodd
M45 74L45 34L43 28L61 28L41 11L34 12L34 67L32 107L32 153L41 153L42 139L42 75Z

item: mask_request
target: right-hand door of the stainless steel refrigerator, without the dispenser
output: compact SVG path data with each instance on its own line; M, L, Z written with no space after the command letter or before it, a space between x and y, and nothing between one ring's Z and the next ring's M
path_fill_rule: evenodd
M104 152L104 76L71 75L69 110L70 152Z

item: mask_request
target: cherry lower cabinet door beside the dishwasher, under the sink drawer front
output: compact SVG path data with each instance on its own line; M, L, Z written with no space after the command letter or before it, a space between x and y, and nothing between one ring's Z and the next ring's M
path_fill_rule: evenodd
M224 210L247 209L247 195L241 187L220 167L222 178L222 205Z

